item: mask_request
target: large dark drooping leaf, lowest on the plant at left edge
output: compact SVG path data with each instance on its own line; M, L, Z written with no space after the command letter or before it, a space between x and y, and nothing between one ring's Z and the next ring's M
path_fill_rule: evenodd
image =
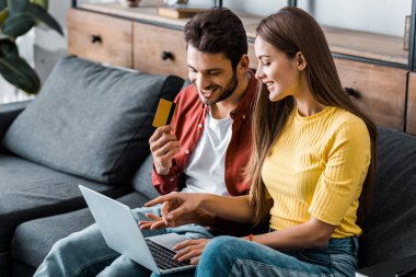
M13 47L12 44L14 43L8 39L0 41L0 73L11 84L35 94L41 89L41 80L35 70L19 56L18 47Z

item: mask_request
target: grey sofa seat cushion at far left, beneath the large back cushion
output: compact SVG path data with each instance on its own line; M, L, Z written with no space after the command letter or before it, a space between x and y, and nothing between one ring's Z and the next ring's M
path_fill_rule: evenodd
M78 184L117 197L129 186L108 186L60 173L18 157L0 155L0 253L10 250L15 228L27 220L85 207Z

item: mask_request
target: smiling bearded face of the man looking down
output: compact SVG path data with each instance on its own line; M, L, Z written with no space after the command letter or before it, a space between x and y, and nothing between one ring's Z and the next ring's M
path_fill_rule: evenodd
M188 45L187 64L189 80L204 104L212 105L226 100L239 83L231 60L221 53L201 53Z

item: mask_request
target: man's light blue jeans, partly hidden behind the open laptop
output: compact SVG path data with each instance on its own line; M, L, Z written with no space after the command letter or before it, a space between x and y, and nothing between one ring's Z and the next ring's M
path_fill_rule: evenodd
M134 210L136 219L147 219L146 213L160 215L160 206ZM162 233L178 233L189 239L213 238L204 227L188 224L164 230L145 230L145 236ZM157 276L146 267L118 254L107 246L96 224L70 234L55 243L45 261L35 273L35 277L46 276ZM186 270L172 276L194 276L194 270Z

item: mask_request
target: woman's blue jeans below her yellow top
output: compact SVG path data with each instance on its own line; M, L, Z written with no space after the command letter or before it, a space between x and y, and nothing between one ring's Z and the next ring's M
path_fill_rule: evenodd
M279 252L255 242L218 236L205 247L196 276L354 277L357 254L357 238L331 239L324 247Z

